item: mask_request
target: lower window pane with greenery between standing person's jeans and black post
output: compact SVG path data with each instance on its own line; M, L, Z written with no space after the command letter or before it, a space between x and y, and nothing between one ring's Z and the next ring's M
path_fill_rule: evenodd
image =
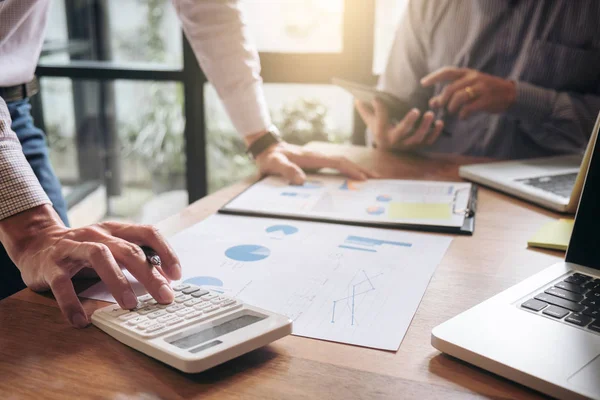
M72 226L155 223L187 205L182 84L42 78L41 97Z

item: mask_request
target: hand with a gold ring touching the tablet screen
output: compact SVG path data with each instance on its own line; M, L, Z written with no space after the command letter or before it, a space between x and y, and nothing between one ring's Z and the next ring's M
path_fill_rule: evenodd
M475 112L502 113L514 104L515 83L469 68L444 67L421 79L424 87L450 82L429 100L431 108L446 109L466 119Z

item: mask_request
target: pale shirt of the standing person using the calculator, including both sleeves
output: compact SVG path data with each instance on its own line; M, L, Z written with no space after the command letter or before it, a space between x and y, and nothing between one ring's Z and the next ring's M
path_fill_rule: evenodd
M208 80L242 135L271 124L260 61L238 0L172 0ZM0 0L0 87L33 78L50 0ZM0 98L0 220L49 203L22 154Z

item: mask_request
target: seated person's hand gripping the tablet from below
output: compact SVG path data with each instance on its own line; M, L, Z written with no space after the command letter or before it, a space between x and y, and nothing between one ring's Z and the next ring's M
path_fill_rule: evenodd
M387 107L377 99L373 101L372 106L359 100L355 102L355 106L373 133L375 144L383 149L416 150L431 145L435 143L444 128L442 121L434 121L435 116L431 111L423 114L421 123L415 126L415 122L421 115L416 108L410 110L400 122L392 124Z

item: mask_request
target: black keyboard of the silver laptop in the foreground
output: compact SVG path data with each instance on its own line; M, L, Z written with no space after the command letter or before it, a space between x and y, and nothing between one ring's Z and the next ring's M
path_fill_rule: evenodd
M521 307L600 332L600 279L574 273Z

